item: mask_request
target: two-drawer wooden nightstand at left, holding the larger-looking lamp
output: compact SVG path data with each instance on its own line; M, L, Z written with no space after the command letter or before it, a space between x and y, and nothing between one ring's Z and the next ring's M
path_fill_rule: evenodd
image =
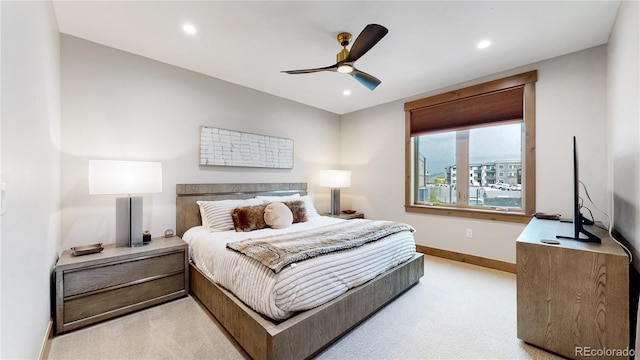
M56 333L186 296L188 253L177 236L83 256L64 251L55 267Z

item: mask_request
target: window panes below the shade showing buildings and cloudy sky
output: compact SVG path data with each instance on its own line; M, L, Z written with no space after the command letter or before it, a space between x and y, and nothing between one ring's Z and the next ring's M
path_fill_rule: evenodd
M469 159L467 205L521 209L521 123L468 132L469 151L463 154ZM461 177L456 165L456 138L456 132L415 138L420 179L417 203L458 203L456 190Z

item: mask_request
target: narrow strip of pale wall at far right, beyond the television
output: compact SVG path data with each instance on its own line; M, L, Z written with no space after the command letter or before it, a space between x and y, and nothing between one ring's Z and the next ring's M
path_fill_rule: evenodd
M640 270L640 5L623 1L607 46L608 118L614 229Z

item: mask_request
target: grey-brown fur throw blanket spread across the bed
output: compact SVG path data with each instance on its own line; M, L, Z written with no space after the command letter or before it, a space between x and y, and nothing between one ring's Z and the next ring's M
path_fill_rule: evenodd
M401 231L415 230L393 221L353 219L317 229L231 242L227 247L278 273L289 264L361 246Z

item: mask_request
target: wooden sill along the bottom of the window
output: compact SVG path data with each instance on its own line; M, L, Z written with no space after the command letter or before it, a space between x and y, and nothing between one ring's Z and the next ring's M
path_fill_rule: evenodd
M436 207L436 206L420 206L420 205L405 205L404 208L405 208L405 212L412 212L412 213L515 222L515 223L521 223L521 224L528 223L532 217L532 215L527 215L525 213L496 211L496 210L481 210L481 209L471 209L471 208Z

